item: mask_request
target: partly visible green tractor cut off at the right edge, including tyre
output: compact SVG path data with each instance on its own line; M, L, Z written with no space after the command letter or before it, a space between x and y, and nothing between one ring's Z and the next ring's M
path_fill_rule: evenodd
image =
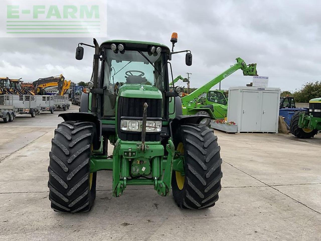
M312 138L321 130L321 98L309 101L309 110L292 116L290 131L298 138Z

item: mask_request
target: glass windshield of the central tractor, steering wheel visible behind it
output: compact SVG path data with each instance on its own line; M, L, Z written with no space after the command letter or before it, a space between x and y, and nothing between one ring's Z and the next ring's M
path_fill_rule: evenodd
M153 85L164 91L165 56L164 53L149 53L126 50L115 53L107 49L104 59L103 76L105 95L104 115L115 116L116 97L119 88L125 84ZM147 59L149 60L147 60Z

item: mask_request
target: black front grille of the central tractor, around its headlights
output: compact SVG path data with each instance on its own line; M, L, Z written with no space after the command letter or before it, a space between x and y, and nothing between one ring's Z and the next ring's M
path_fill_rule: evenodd
M121 117L138 117L143 118L143 104L148 104L147 118L161 118L162 117L162 99L146 99L146 98L127 98L120 96L118 99L118 137L121 140L127 141L141 141L141 132L124 132L120 131L120 118ZM145 141L160 141L160 133L146 132Z

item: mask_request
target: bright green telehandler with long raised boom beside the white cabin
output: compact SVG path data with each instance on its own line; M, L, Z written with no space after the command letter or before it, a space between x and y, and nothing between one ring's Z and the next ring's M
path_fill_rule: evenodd
M243 71L244 76L257 76L256 64L247 65L243 59L236 58L236 64L191 94L182 97L183 114L206 115L211 119L224 119L227 117L228 101L224 95L224 91L210 89L238 69ZM211 121L210 118L203 119L201 124L209 125Z

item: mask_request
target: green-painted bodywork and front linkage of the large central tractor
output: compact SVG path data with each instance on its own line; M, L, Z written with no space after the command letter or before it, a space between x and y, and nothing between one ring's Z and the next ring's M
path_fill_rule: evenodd
M132 43L149 44L167 48L153 42L140 42L129 40L110 40L102 43ZM167 61L166 61L167 63ZM168 75L168 73L166 73ZM102 118L102 124L115 125L115 133L109 135L109 142L114 145L112 156L104 156L103 146L107 139L101 140L98 150L93 150L90 158L90 172L100 170L112 170L113 172L113 196L122 195L127 185L152 185L161 196L168 195L171 188L172 171L179 171L184 175L184 156L175 151L172 137L169 138L164 146L160 141L145 142L124 141L117 135L117 106L120 97L126 98L149 98L163 99L161 91L153 85L143 84L124 84L119 88L116 98L115 117ZM169 98L169 119L175 117L174 97ZM91 94L89 96L89 106L91 106ZM90 108L90 107L89 107ZM90 110L89 110L90 112ZM162 121L162 126L168 126L169 121ZM166 153L166 155L165 155Z

